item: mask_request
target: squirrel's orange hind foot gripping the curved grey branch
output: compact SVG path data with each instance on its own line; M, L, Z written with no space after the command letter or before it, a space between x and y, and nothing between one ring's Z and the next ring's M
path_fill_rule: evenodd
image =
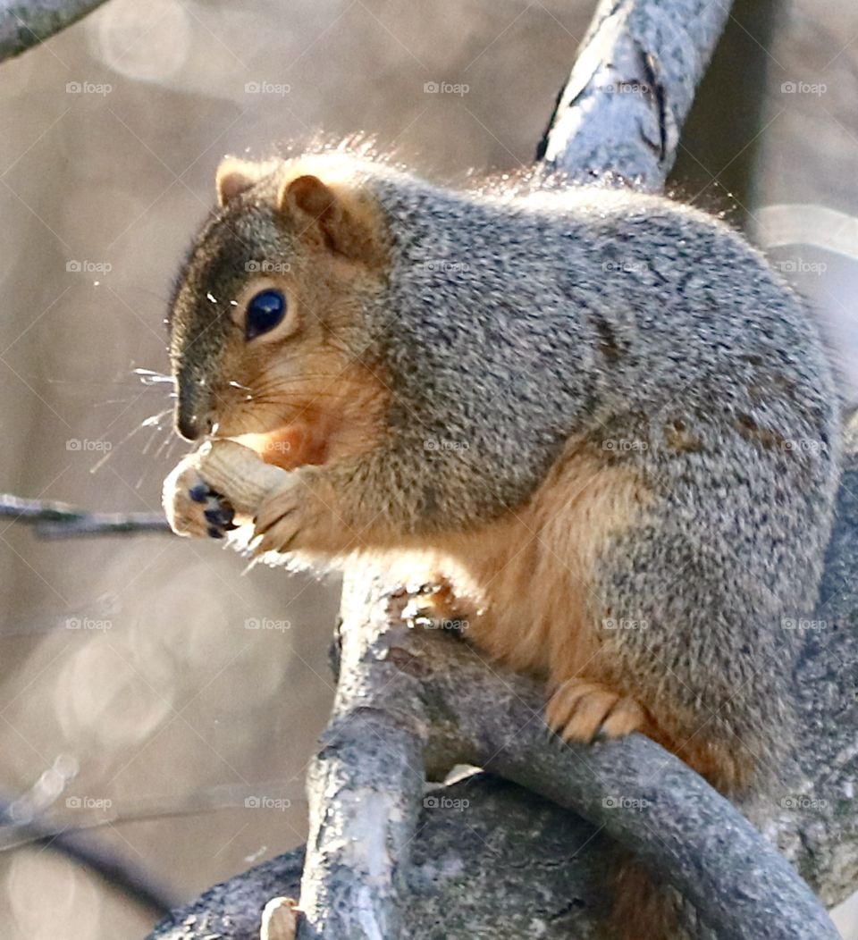
M601 682L570 679L548 700L545 721L565 742L590 744L647 728L647 714L631 697Z

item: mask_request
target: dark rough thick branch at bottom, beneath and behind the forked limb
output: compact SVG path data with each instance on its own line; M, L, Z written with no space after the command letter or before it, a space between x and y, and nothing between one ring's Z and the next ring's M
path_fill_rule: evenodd
M499 777L469 777L444 794L423 809L413 841L406 872L411 936L595 938L610 898L603 887L610 839ZM257 940L262 906L273 894L297 897L303 867L297 851L215 885L150 940Z

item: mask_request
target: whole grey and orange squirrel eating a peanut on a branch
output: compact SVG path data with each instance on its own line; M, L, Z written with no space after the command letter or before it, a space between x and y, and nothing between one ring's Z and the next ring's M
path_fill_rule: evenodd
M423 556L564 741L640 731L734 799L771 786L840 402L761 254L663 196L460 191L347 148L226 158L217 196L168 319L202 442L174 529ZM616 932L676 936L623 876Z

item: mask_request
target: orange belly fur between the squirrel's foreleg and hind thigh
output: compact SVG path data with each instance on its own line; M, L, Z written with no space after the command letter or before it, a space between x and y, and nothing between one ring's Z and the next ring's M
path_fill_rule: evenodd
M595 567L650 500L630 470L571 442L526 506L445 546L445 575L479 611L469 638L552 683L592 675L595 623L609 606L594 593Z

